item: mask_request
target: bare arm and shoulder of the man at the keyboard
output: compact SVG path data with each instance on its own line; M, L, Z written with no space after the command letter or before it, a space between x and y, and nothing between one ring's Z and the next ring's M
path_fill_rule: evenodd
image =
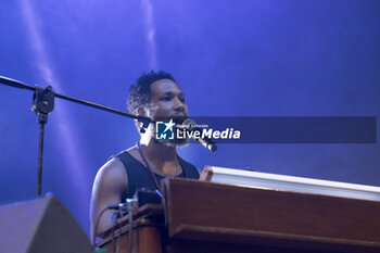
M90 203L91 239L93 238L94 226L99 213L110 204L121 202L121 197L127 190L128 177L125 167L117 159L110 160L98 172L92 186ZM111 214L106 211L101 217L98 231L112 225Z

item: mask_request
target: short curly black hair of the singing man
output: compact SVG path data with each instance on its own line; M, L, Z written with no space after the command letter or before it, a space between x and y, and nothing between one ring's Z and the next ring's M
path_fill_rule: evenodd
M138 107L148 105L151 99L151 85L161 79L176 81L172 74L163 71L142 73L142 75L137 78L136 83L130 86L127 98L127 105L130 113L135 114Z

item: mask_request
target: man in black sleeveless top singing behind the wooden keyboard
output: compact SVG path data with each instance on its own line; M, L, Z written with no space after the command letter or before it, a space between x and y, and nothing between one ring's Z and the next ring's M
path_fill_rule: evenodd
M140 76L129 89L128 110L136 115L157 118L188 117L185 94L173 76L165 72L153 72ZM140 125L137 124L138 130ZM140 188L160 189L165 177L198 179L199 170L178 156L178 143L154 140L154 126L150 124L140 141L132 148L112 156L98 172L91 195L91 233L99 213L110 204L125 202ZM111 226L111 211L99 223L99 229ZM98 232L97 231L97 232Z

